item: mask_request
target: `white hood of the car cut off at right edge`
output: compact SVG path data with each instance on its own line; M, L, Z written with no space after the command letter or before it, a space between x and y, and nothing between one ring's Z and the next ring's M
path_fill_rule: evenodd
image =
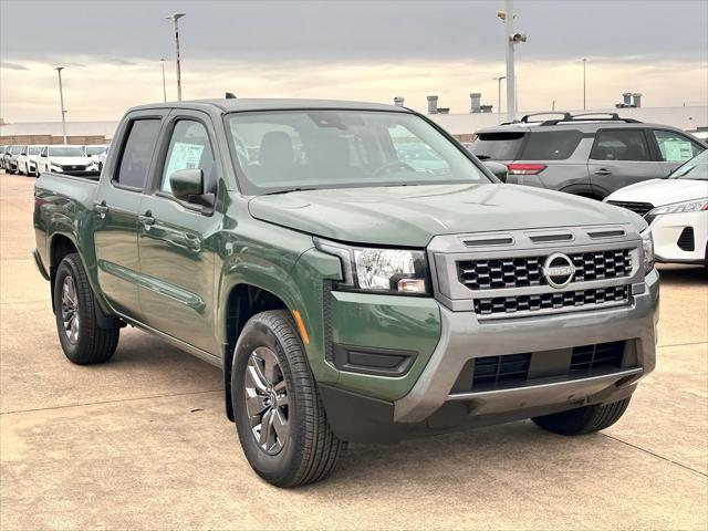
M607 196L608 201L650 202L655 207L708 196L708 183L691 179L652 179L636 183Z

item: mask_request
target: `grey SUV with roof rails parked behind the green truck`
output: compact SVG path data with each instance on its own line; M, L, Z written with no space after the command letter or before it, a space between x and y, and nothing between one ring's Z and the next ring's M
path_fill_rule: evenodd
M534 121L560 114L561 118ZM642 180L665 178L706 149L668 125L612 113L539 113L478 131L470 150L507 165L507 183L604 199Z

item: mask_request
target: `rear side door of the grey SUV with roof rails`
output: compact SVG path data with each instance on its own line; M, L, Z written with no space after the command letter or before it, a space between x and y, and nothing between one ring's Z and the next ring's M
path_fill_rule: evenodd
M604 198L620 188L663 178L664 166L643 128L603 128L595 134L587 169L593 191Z

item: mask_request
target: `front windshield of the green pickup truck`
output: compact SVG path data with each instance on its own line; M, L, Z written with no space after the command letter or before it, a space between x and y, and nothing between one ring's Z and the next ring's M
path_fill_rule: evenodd
M228 116L244 194L489 183L465 152L408 113L302 110Z

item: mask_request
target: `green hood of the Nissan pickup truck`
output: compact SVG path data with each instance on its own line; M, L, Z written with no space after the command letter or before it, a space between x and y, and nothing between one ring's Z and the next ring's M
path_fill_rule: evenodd
M251 216L333 240L425 247L434 236L646 223L629 210L518 185L433 185L292 191L250 200Z

